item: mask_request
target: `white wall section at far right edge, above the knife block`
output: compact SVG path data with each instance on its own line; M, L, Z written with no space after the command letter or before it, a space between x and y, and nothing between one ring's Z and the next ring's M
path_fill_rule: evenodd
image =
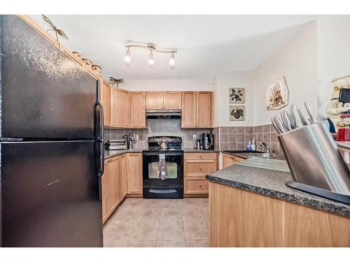
M318 117L332 93L332 79L350 74L350 16L325 15L317 20Z

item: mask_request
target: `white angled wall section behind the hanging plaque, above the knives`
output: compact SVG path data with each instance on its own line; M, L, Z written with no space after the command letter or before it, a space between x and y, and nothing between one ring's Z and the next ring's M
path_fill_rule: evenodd
M254 125L270 124L271 117L280 110L266 110L267 87L274 80L286 77L289 105L304 108L308 101L317 110L316 22L272 54L254 71Z

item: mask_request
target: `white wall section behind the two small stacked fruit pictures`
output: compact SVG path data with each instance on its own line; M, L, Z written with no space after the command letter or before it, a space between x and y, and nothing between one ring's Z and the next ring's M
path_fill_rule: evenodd
M223 71L215 76L214 82L214 126L252 126L253 72ZM230 87L245 88L246 116L244 121L230 121L230 105L236 105L230 104Z

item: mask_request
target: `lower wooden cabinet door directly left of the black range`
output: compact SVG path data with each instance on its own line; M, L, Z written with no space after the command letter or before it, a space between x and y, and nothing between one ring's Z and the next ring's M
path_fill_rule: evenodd
M142 194L142 182L142 154L129 153L127 157L127 194Z

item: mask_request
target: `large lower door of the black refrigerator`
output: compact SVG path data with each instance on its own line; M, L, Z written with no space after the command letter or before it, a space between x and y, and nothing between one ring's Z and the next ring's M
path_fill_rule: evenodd
M99 146L1 143L3 247L102 247Z

